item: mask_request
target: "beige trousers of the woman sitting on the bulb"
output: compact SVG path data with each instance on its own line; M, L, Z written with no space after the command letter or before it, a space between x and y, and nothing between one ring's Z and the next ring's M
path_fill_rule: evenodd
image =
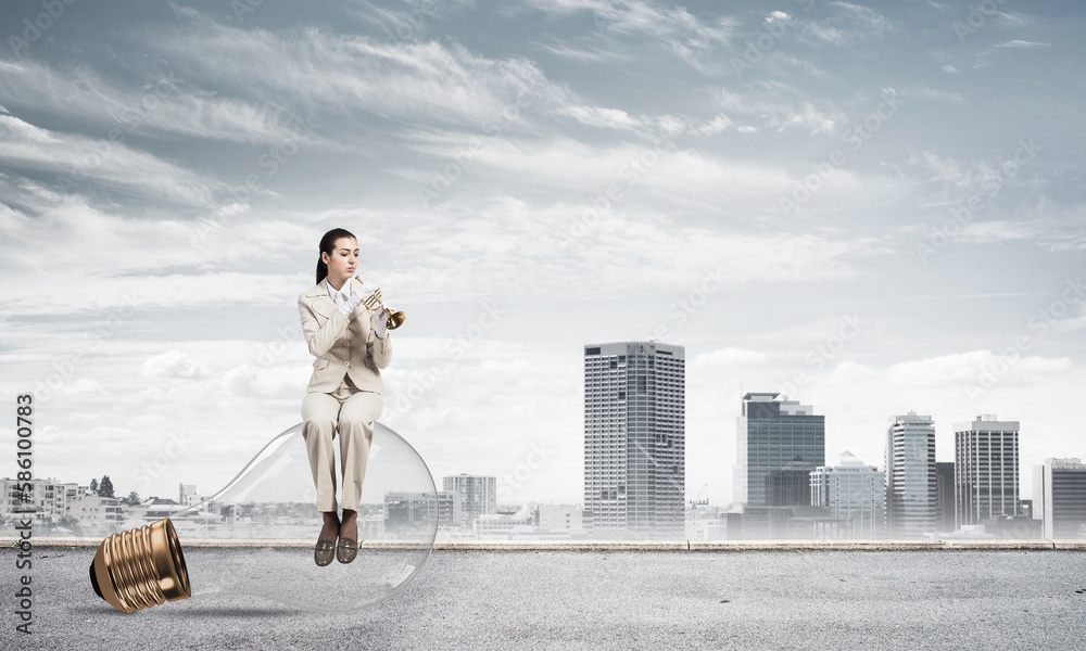
M381 394L362 391L344 375L330 394L313 392L302 399L302 436L317 489L317 510L336 511L336 459L332 438L340 435L343 493L340 507L358 510L366 461L374 442L374 422L384 410Z

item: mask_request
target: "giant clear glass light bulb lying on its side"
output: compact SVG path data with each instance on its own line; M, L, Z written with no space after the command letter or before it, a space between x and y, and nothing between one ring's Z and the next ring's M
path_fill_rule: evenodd
M433 477L415 448L374 423L358 506L358 556L351 563L317 566L313 546L321 520L299 423L268 442L212 497L103 540L90 580L99 597L128 613L227 595L315 612L357 611L391 597L418 574L433 549L439 509L453 516L453 502L446 501L439 503ZM193 547L243 549L190 548L186 559L181 540L187 538Z

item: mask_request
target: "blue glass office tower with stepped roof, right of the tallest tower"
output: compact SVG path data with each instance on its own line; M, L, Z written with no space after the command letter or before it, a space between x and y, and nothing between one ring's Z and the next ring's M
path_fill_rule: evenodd
M780 395L743 396L733 501L744 510L810 506L810 472L825 465L825 417Z

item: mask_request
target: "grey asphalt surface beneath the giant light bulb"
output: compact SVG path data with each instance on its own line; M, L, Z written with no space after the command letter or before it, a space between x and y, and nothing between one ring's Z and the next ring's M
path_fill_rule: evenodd
M16 552L0 551L5 650L1086 648L1081 551L434 551L397 595L331 615L252 597L126 614L94 595L93 549L37 547L29 636Z

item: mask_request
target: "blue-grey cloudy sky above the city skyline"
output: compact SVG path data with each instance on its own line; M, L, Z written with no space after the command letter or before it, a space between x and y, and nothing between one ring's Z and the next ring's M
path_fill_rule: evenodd
M578 503L583 347L686 358L686 497L745 392L882 467L1021 422L1086 458L1075 2L278 0L0 8L0 388L35 476L210 494L301 420L331 228L407 314L380 421ZM55 14L55 15L54 15ZM16 470L14 419L0 467Z

